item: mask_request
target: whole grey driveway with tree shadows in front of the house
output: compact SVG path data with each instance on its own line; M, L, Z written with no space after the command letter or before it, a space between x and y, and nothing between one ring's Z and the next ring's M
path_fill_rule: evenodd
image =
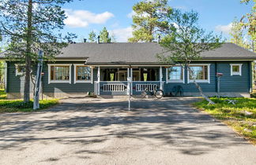
M194 98L66 100L0 115L0 164L256 164L256 147Z

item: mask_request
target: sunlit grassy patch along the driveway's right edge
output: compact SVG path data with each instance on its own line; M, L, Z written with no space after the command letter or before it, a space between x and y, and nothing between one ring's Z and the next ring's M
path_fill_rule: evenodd
M194 103L194 106L220 119L256 145L256 99L213 97L211 100L216 105L208 105L208 101L203 100Z

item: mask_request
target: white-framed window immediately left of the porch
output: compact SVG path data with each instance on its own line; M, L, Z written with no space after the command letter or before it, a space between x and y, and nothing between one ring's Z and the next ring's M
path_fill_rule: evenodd
M74 83L92 83L92 68L81 64L74 64L74 72Z

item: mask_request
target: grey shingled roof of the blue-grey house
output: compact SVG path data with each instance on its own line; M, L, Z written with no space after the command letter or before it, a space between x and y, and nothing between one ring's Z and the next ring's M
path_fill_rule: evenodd
M130 64L158 63L156 54L163 48L158 43L74 43L63 49L58 59L86 58L88 63L126 62ZM218 49L201 53L203 60L256 60L256 53L224 43Z

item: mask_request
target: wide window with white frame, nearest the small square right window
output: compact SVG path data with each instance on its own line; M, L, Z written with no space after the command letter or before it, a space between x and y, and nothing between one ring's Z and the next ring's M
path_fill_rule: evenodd
M209 80L209 64L190 64L190 70L188 71L189 83L193 83L194 79L197 83L210 83Z

